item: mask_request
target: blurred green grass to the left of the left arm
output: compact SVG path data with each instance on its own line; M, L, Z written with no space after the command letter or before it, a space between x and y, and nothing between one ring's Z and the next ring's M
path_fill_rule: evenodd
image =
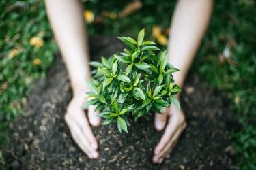
M25 95L33 81L44 76L53 63L57 46L52 40L53 34L42 2L3 0L0 2L0 20L1 145L8 122L23 113ZM39 48L31 46L32 37L40 37L44 44Z

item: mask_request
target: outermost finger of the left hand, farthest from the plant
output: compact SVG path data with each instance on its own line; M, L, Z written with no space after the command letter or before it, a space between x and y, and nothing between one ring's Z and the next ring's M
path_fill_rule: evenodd
M89 156L89 158L98 158L98 152L94 150L85 135L83 135L79 126L73 120L67 119L68 126L70 127L71 135L78 144L79 148Z

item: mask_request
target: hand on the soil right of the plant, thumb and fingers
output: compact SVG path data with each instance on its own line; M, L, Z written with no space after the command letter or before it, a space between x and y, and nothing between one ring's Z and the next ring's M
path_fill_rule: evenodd
M168 116L169 121L165 133L162 135L160 142L154 149L154 156L152 158L153 163L162 163L165 158L169 157L169 154L175 147L182 131L186 128L184 113L181 109L178 109L175 105L171 104L170 107L165 109L164 113L155 114L154 124L158 131L165 128Z

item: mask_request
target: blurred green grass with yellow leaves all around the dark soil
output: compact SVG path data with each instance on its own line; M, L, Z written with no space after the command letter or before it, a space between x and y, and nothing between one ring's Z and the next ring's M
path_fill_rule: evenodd
M133 36L166 48L176 1L83 1L89 36ZM255 1L215 1L210 26L193 64L207 86L218 89L236 110L242 128L230 134L239 169L256 169ZM57 45L44 2L0 2L0 146L8 122L23 113L33 81L51 67ZM0 150L1 151L1 150ZM1 152L0 152L1 160ZM0 163L1 164L1 163Z

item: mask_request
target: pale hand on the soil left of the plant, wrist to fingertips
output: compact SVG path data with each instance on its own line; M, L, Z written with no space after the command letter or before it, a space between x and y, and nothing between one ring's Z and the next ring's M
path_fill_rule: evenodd
M94 133L91 131L92 126L100 125L100 118L97 116L98 113L94 113L94 106L90 106L87 109L89 122L84 110L81 108L85 103L85 92L89 91L88 88L82 88L70 101L67 112L65 114L65 120L70 129L72 138L76 144L87 154L89 158L98 158L97 152L98 143Z

